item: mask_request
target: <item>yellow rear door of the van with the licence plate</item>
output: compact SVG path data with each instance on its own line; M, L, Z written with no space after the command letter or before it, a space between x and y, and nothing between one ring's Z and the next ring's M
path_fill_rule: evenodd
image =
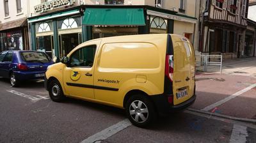
M189 100L193 96L194 71L191 71L191 64L195 64L195 59L189 42L186 38L173 38L173 52L174 52L174 73L173 73L173 104L178 105Z

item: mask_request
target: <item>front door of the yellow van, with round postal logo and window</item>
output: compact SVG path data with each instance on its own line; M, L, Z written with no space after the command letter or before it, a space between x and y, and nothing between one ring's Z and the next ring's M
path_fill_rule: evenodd
M100 41L92 41L68 54L68 64L63 68L63 85L70 96L94 99L93 71L96 49Z

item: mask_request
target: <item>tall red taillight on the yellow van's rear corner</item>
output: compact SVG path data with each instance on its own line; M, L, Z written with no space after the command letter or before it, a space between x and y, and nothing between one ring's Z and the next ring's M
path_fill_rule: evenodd
M165 61L165 75L170 79L170 81L173 81L173 67L174 67L174 61L173 61L173 55L166 55L166 61Z

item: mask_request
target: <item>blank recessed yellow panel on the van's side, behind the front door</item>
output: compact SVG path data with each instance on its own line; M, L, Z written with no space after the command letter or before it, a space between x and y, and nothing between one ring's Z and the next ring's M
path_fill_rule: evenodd
M107 43L100 55L102 68L158 68L159 51L151 43Z

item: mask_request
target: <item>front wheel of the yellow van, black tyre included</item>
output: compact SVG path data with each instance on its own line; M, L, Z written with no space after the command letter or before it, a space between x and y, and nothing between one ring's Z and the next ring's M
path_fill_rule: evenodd
M61 102L65 98L60 82L58 82L58 80L52 80L50 82L48 91L49 91L51 100L54 102Z

